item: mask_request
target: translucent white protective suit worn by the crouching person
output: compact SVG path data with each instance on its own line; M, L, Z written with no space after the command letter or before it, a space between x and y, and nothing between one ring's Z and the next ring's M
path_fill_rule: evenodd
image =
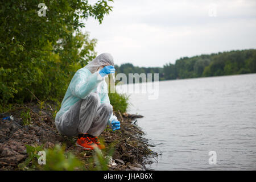
M109 53L102 53L73 76L55 117L57 130L68 137L89 133L98 137L117 117L110 105L108 85L98 69L114 65Z

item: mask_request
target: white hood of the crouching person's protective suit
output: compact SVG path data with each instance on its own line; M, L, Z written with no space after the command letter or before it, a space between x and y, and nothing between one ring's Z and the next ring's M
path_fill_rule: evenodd
M113 65L114 66L114 59L110 53L101 53L95 59L90 61L85 68L89 69L91 73L95 73L98 68L105 65Z

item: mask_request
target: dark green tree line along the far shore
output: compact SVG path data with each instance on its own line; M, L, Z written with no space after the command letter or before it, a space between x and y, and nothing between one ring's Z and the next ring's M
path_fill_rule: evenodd
M256 73L256 49L181 57L175 64L167 63L163 67L136 67L125 63L115 65L115 69L127 77L129 73L159 73L159 80Z

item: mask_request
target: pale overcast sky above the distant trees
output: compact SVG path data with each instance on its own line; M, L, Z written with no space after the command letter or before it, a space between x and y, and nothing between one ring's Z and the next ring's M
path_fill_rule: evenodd
M256 1L115 0L83 31L115 64L163 67L184 56L256 48Z

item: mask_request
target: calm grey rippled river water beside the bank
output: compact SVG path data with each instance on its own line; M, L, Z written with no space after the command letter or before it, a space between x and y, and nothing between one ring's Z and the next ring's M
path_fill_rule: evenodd
M129 101L161 154L147 168L256 169L256 74L160 81L157 99L131 93Z

